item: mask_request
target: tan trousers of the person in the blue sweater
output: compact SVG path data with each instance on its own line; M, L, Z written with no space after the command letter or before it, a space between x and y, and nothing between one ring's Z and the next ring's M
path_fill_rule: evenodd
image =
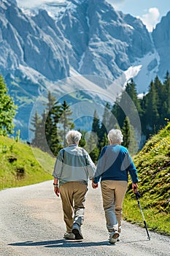
M127 181L101 181L103 206L109 232L112 230L121 232L123 199L127 189Z

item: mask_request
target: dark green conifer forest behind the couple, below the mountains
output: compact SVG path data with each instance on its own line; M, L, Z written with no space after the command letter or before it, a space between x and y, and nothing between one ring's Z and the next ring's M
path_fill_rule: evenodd
M134 110L134 108L136 109ZM136 126L136 116L139 116L138 126ZM170 120L169 72L166 73L163 83L156 76L155 80L150 83L148 93L144 94L142 98L138 97L136 84L134 80L131 80L113 105L109 103L105 105L102 120L98 118L98 110L94 111L91 132L88 132L88 136L86 136L87 131L85 129L80 129L82 132L80 146L85 146L90 157L96 162L101 148L108 143L107 133L109 129L119 128L123 132L123 146L134 155L142 149L150 136L155 135L166 126L167 120ZM31 143L43 151L50 149L53 154L58 154L58 151L66 146L66 132L74 128L69 103L66 101L63 104L56 102L49 91L47 108L42 116L35 113L32 126L34 139ZM139 129L140 127L141 129ZM44 133L48 148L43 144ZM139 141L139 137L142 138L141 141Z

